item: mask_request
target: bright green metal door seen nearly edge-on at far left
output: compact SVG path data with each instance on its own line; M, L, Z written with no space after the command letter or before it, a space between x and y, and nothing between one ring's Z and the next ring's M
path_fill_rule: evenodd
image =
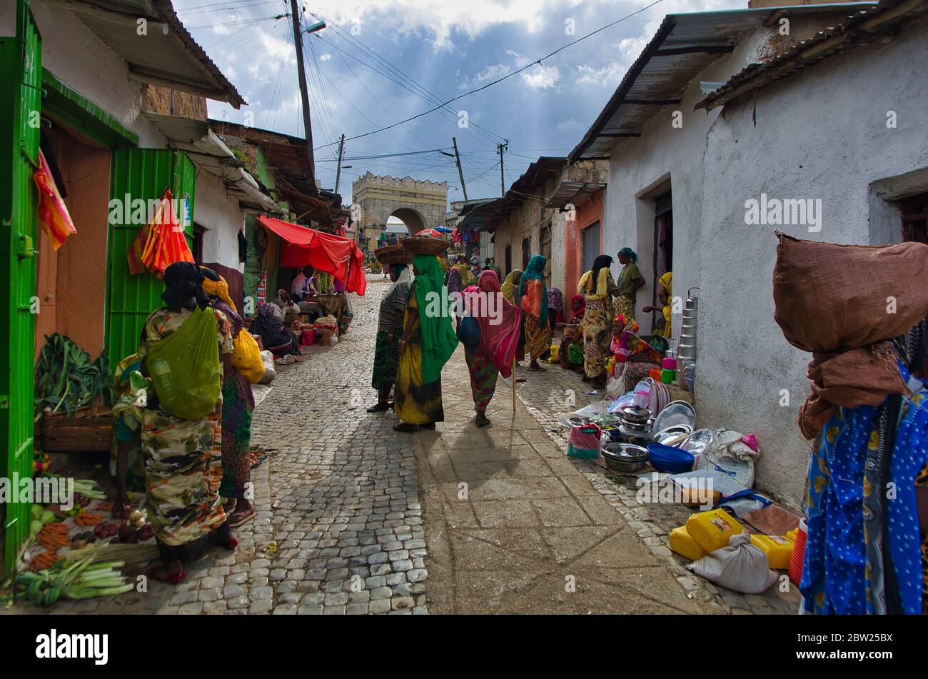
M32 352L42 38L28 0L16 36L0 38L0 477L32 476ZM31 124L32 123L32 124ZM0 505L3 570L29 537L30 506Z

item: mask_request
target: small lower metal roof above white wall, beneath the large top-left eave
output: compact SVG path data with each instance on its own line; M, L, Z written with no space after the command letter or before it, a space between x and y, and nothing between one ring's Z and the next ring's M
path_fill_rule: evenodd
M260 211L286 214L243 169L241 160L213 133L208 122L160 113L144 115L170 140L172 147L184 151L200 168L222 180L239 203Z

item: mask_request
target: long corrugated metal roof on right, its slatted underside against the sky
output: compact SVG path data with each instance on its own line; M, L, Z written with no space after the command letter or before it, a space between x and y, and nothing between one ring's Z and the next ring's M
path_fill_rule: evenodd
M774 15L828 13L862 5L870 3L667 15L568 160L608 159L623 138L640 136L645 124L664 106L679 103L690 81L716 58L730 52L741 35L753 32Z

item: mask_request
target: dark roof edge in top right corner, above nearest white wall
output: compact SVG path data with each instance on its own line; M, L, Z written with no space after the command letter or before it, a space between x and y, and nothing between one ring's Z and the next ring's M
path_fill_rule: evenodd
M705 96L696 108L715 109L724 106L732 99L792 75L848 47L871 43L879 37L880 31L895 28L902 21L926 10L928 0L882 0L877 6L857 11L843 23L819 31L769 61L749 64L733 75L728 83ZM867 29L868 23L873 24L870 30Z

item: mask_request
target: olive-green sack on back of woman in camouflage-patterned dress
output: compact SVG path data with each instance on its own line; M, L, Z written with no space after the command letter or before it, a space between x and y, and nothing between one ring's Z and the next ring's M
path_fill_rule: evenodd
M181 327L148 351L148 375L161 410L181 419L213 412L222 388L216 330L213 310L197 307Z

